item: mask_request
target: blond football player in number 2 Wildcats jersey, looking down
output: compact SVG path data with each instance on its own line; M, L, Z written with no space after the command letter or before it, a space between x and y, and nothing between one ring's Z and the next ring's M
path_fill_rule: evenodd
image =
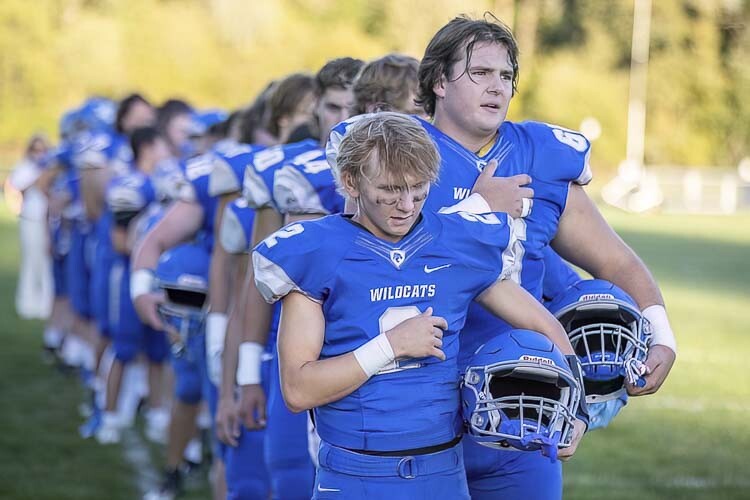
M258 289L284 299L286 403L315 408L313 498L469 498L457 369L469 304L567 355L572 347L510 279L519 248L510 217L420 215L440 170L420 124L397 113L359 120L338 167L355 214L288 225L253 254Z

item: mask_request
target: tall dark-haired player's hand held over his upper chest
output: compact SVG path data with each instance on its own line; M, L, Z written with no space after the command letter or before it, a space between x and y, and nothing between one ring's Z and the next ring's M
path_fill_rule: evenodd
M526 174L513 177L495 177L497 160L490 161L471 189L485 199L493 212L505 212L512 217L526 217L531 213L534 190L524 187L531 183ZM524 201L526 199L526 201Z

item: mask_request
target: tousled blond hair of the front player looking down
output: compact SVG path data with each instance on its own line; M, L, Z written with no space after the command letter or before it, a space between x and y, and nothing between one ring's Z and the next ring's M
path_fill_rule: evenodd
M339 191L342 180L354 184L381 173L394 184L407 178L433 183L440 172L440 154L427 132L413 118L392 112L367 115L352 124L341 141L337 158Z

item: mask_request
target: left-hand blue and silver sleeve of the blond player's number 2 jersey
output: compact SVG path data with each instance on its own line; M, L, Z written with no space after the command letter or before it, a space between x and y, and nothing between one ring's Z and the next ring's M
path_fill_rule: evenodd
M273 303L290 292L300 292L322 303L328 296L335 259L324 241L318 221L307 221L285 226L255 247L255 284L263 298Z

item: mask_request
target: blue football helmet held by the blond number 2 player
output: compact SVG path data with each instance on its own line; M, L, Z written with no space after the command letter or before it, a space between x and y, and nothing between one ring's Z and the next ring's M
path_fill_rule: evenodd
M544 335L510 330L472 356L461 396L467 432L479 444L543 450L551 460L570 446L581 386Z

